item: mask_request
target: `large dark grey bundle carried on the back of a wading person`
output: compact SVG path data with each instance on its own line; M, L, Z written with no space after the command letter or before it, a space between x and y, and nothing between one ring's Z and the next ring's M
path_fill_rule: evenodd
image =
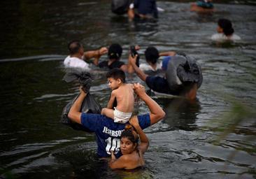
M203 82L201 67L192 57L173 56L166 70L166 80L173 92L182 89L187 83L197 83L199 88Z

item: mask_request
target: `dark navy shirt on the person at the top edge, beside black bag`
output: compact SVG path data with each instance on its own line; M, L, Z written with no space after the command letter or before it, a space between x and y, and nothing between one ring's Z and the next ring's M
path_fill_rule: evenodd
M134 8L136 8L139 14L152 15L152 17L158 17L157 3L155 0L135 0Z

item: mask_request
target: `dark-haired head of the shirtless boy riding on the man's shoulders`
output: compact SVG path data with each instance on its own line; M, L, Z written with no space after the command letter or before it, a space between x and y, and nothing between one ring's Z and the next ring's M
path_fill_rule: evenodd
M111 69L106 73L106 78L108 78L108 86L111 90L115 90L125 83L125 72L121 69Z

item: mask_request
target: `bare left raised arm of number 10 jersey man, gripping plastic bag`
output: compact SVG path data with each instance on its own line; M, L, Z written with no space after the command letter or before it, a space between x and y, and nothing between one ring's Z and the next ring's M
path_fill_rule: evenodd
M73 122L76 122L78 124L81 124L80 118L81 118L82 113L80 113L80 108L82 106L83 100L85 99L86 95L87 94L85 92L83 92L83 90L81 90L81 88L80 88L80 95L78 96L76 101L71 106L71 109L69 110L68 117Z

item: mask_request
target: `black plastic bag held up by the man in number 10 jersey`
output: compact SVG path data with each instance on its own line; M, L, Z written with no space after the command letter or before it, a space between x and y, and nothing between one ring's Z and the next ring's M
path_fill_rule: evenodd
M95 101L94 97L89 93L91 84L92 84L92 77L90 73L86 71L73 71L71 73L66 73L64 76L64 80L66 82L71 82L73 80L78 80L80 85L82 86L82 89L87 92L87 95L85 99L83 100L82 106L80 108L81 113L93 113L93 114L100 114L101 113L101 106L100 104ZM84 127L82 124L78 124L76 122L73 122L69 119L69 110L71 109L71 106L73 105L74 101L78 98L80 94L78 94L72 101L70 101L63 109L62 111L62 117L60 122L62 124L66 124L69 127L72 127L75 130L79 131L87 131L92 132L86 127Z

